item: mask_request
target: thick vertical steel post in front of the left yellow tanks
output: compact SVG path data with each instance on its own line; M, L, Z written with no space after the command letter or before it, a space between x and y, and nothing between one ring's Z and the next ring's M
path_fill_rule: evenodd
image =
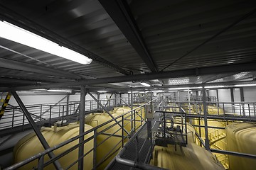
M80 90L80 107L79 107L79 135L85 132L85 96L86 89L85 86L81 86ZM84 137L79 138L79 142L83 142ZM84 145L81 145L78 149L78 159L84 155ZM78 169L83 169L84 158L78 161Z

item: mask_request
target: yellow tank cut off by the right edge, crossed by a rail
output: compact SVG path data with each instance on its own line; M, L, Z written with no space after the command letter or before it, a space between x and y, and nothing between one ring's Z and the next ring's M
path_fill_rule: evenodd
M226 128L228 150L246 154L256 154L256 125L252 123L232 123ZM228 155L231 170L256 169L256 159Z

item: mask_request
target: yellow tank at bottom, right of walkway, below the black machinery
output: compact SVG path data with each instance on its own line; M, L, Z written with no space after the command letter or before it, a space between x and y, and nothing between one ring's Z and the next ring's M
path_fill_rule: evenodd
M174 145L156 146L153 154L150 164L164 169L225 170L213 154L194 143L188 143L187 147L176 148Z

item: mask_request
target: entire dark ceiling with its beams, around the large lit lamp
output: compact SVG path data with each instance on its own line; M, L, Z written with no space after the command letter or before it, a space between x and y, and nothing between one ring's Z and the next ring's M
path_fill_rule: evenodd
M256 77L255 1L1 0L0 19L93 60L78 64L0 38L1 91Z

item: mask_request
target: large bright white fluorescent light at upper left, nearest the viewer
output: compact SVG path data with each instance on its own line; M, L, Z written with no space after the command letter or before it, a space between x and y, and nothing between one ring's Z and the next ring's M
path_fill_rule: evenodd
M55 42L31 33L28 30L24 30L23 28L19 28L18 26L14 26L11 23L7 23L6 21L0 21L0 37L72 60L73 62L78 62L80 64L90 64L92 62L92 59L85 55L81 55L67 47L61 47Z

